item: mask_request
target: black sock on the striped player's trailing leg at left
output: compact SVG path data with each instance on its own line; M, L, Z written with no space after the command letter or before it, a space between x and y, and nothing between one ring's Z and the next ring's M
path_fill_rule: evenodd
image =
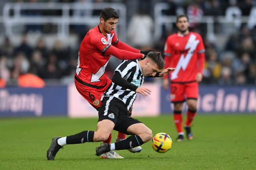
M85 142L93 142L94 131L82 131L75 135L67 136L67 144L78 144Z

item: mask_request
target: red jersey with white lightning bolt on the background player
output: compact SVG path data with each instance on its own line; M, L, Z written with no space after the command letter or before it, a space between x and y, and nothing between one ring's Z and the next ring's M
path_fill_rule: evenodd
M166 40L164 55L165 68L176 68L169 74L171 82L195 81L196 74L202 72L198 65L198 54L204 53L204 51L204 43L198 33L170 35ZM165 78L167 77L165 76Z

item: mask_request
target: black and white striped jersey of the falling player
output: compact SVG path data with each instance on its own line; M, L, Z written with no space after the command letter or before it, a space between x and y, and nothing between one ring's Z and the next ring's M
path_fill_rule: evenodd
M124 60L115 71L120 72L122 78L137 87L140 87L144 82L144 75L142 74L138 60ZM137 93L112 82L108 90L102 95L102 99L104 96L113 96L122 100L126 105L127 110L129 110L137 96Z

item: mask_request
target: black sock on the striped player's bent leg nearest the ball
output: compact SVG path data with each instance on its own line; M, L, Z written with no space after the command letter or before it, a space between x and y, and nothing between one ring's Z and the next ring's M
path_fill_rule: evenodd
M116 150L130 149L142 145L144 142L138 135L132 135L123 141L115 143Z

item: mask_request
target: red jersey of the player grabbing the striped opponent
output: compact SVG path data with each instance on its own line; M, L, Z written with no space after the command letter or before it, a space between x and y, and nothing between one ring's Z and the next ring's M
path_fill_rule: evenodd
M111 43L117 43L115 31L104 36L98 26L86 33L78 54L76 76L85 83L93 86L105 86L111 82L105 73L110 55L104 52Z

